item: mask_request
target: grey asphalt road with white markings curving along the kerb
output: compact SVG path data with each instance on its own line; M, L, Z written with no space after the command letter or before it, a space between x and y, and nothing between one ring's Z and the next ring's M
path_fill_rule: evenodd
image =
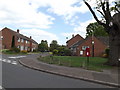
M27 55L28 58L34 56ZM19 58L10 57L12 56L3 55L6 61L0 61L4 88L108 88L101 84L32 70L20 65L17 62ZM8 60L11 61L7 62Z

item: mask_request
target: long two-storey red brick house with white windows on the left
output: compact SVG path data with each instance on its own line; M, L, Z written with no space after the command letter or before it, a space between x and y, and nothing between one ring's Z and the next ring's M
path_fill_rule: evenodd
M38 43L32 39L32 37L26 37L17 32L5 27L0 31L0 45L2 49L11 49L12 42L14 39L15 47L19 48L21 51L33 51L38 48Z

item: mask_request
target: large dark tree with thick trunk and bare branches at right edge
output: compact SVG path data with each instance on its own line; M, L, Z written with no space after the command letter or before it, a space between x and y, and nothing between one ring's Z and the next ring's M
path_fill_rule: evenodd
M105 28L105 31L109 35L109 59L108 65L120 66L120 1L114 2L115 14L111 15L111 7L109 0L96 0L96 10L101 14L103 20L99 20L95 11L91 8L90 4L84 0L84 3L89 8L95 20Z

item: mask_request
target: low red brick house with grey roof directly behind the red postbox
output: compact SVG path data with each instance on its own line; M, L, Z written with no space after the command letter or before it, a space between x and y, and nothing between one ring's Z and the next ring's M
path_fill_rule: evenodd
M75 40L72 37L69 41L67 41L67 46L69 46L69 42L74 42L71 40ZM73 55L75 56L86 56L86 48L90 48L90 56L102 56L105 52L105 49L109 47L109 38L108 37L95 37L89 36L85 39L76 40L76 42L72 43L69 49L71 49Z

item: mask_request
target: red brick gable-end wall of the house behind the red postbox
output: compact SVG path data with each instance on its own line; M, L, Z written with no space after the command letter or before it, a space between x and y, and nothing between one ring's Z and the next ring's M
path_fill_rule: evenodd
M80 56L80 51L82 50L82 46L89 46L90 47L90 54L92 56L92 38L90 37L84 43L77 47L77 56ZM103 42L99 41L97 38L94 37L94 56L102 56L103 52L107 48ZM83 56L85 56L85 51L83 51Z

